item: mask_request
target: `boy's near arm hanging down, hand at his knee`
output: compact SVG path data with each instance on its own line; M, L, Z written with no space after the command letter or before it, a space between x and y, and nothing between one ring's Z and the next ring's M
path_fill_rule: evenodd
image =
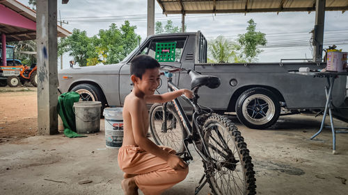
M148 151L168 162L169 166L173 169L187 167L187 164L177 155L173 155L171 153L168 153L167 151L164 151L150 139L148 139L148 137L146 137L144 129L145 121L143 121L143 116L141 116L142 112L139 112L139 108L144 107L143 103L141 103L141 100L136 99L134 100L134 103L131 103L130 105L132 108L129 109L129 113L132 118L133 136L136 144L141 147L141 149Z

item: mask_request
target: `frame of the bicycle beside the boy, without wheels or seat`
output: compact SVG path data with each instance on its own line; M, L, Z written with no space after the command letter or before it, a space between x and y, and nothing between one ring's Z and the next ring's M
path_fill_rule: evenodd
M168 92L173 92L176 90L180 90L174 83L172 83L172 76L173 74L166 72L165 76L167 77L167 83L168 83ZM184 126L184 130L186 130L187 132L187 137L184 138L183 142L184 142L184 146L185 149L187 151L187 153L182 153L184 154L184 160L193 160L191 153L189 152L189 149L187 149L187 145L189 143L193 144L194 149L197 151L197 153L200 155L200 157L203 159L203 161L205 162L210 162L209 160L209 156L205 155L207 154L207 147L205 146L205 142L203 142L203 135L202 135L202 128L198 125L198 117L204 115L200 108L200 106L198 105L198 98L199 96L198 94L198 88L199 87L195 87L193 89L193 93L194 93L194 97L193 99L188 99L187 96L180 96L182 99L184 99L184 101L186 101L187 103L189 103L192 107L193 107L193 115L192 115L192 125L190 124L189 119L187 118L187 115L184 112L184 109L182 108L182 105L180 104L180 101L176 98L174 99L172 102L174 104L175 110L177 111L177 114L180 117L180 120L182 121L182 124ZM166 127L166 105L167 103L164 103L163 106L163 112L164 112L164 126ZM198 116L197 116L198 115ZM211 115L211 112L208 114ZM163 125L163 124L162 124ZM162 126L163 128L163 126ZM202 149L198 149L198 146L196 143L200 142L202 144ZM182 155L181 154L181 155ZM180 155L180 154L178 154ZM188 155L188 156L187 156ZM185 161L186 161L185 160Z

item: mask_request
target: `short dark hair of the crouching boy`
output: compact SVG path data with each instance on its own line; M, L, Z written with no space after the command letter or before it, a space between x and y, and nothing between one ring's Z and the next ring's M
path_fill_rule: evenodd
M136 77L141 78L145 73L146 69L155 69L161 67L159 62L147 55L136 56L131 61L130 73L134 74Z

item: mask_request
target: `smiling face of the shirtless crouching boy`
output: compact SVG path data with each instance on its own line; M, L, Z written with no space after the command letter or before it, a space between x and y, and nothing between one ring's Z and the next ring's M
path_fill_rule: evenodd
M160 84L159 77L159 68L146 69L143 76L141 78L136 77L133 83L144 95L152 95L155 94L155 90Z

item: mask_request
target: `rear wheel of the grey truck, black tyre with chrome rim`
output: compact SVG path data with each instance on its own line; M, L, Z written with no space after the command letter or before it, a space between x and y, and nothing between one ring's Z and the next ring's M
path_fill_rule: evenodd
M255 87L239 96L236 112L239 121L248 128L264 129L278 120L280 103L270 90Z

